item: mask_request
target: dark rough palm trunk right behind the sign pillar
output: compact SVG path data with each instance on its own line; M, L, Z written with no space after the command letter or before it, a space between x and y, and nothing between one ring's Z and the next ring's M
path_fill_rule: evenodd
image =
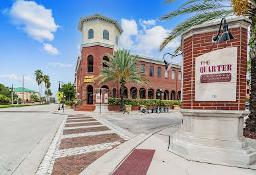
M251 38L256 37L256 17L251 19ZM250 132L256 132L256 43L255 41L249 46L250 47L250 59L251 59L251 95L249 99L249 118L246 120L245 130Z

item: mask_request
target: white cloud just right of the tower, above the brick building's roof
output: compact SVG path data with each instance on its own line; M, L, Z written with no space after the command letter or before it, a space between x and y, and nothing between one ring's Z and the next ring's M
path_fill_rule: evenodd
M120 39L121 46L137 53L152 55L152 51L158 50L158 47L171 30L168 30L163 26L155 26L156 20L140 19L139 24L141 25L142 30L139 30L138 32L138 25L135 20L121 20L121 26L123 28L123 34ZM166 49L176 49L179 45L180 43L176 39L168 43Z

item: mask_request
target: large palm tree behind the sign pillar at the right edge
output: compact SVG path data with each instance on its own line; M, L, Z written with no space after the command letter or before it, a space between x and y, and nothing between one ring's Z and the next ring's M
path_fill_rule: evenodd
M168 0L165 3L173 3L175 0ZM175 16L183 14L192 14L187 20L181 22L170 32L159 47L162 51L170 42L179 37L182 32L191 26L203 24L210 20L216 20L221 17L235 14L237 16L247 16L251 19L250 41L249 41L249 58L251 61L251 96L249 118L246 120L245 130L256 132L256 0L187 0L177 10L168 13L160 20L170 20ZM180 51L178 47L175 53Z

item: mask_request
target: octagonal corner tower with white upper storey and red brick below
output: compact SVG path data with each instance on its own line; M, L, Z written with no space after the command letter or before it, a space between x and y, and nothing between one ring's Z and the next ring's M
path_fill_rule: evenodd
M81 57L76 66L77 96L82 99L82 104L88 107L96 103L97 88L109 89L113 86L110 82L98 86L98 80L95 78L100 74L100 68L106 66L102 64L102 60L109 61L106 55L113 55L113 51L119 48L119 38L123 30L116 20L94 14L80 18L79 31L82 33L82 43Z

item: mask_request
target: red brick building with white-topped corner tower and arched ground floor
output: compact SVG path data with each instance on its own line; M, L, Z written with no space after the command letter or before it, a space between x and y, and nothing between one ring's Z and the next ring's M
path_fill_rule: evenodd
M108 82L98 86L98 80L94 78L100 74L100 68L104 66L102 60L109 60L106 54L113 55L113 52L119 49L119 37L123 32L121 26L115 20L95 14L80 18L79 30L82 32L82 44L81 57L77 59L75 68L75 84L82 104L95 104L96 88L109 89L108 97L119 97L118 84ZM162 60L143 55L139 55L139 58L136 66L144 69L144 76L150 83L141 86L126 84L125 97L160 99L158 91L162 89L162 99L181 99L181 65L172 64L172 68L167 71Z

